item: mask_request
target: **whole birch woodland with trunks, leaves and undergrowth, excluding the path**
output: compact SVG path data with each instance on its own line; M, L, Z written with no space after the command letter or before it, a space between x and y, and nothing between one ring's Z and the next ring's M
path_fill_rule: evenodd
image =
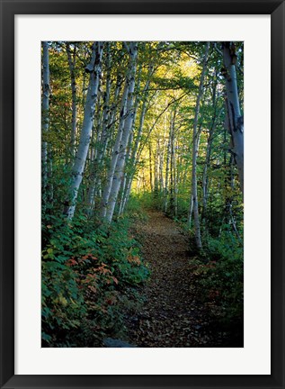
M43 346L128 339L154 274L149 210L183 231L185 272L241 345L243 42L43 41L41 55Z

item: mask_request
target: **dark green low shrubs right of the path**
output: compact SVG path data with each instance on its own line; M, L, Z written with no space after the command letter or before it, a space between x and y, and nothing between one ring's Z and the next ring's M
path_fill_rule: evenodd
M211 304L221 325L233 328L243 321L243 246L228 231L219 239L209 237L207 243L203 258L191 261L191 266L203 291L203 302Z

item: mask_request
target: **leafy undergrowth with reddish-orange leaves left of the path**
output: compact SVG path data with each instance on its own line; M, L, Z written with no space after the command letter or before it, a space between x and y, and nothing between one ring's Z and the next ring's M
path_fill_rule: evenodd
M104 336L121 332L121 302L135 299L148 276L138 243L126 219L109 228L85 216L70 224L48 219L42 226L42 345L101 346Z

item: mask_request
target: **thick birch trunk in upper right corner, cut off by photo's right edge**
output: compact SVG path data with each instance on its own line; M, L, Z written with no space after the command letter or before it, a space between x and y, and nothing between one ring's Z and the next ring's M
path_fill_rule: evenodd
M236 80L236 48L231 42L224 42L224 76L226 78L227 91L227 115L229 131L232 139L232 153L242 193L244 195L244 117L240 111L240 104Z

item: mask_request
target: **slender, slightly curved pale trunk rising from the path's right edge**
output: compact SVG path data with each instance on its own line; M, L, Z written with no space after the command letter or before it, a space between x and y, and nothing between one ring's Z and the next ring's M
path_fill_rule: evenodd
M194 213L194 227L195 227L195 241L197 249L202 248L200 239L200 219L199 219L199 204L198 204L198 191L197 191L197 157L198 157L198 118L200 113L200 100L203 95L203 83L206 74L207 60L209 55L209 42L206 43L206 49L203 59L203 67L200 74L200 86L196 101L195 116L193 123L193 149L192 149L192 199L193 199L193 213Z

